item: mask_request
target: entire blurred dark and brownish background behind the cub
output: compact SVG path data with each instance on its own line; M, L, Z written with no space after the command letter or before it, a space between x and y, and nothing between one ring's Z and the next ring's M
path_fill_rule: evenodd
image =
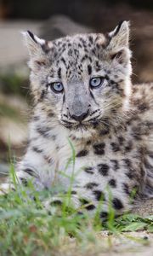
M152 0L0 0L0 172L24 153L30 116L27 50L20 32L52 40L108 32L131 21L133 83L153 81Z

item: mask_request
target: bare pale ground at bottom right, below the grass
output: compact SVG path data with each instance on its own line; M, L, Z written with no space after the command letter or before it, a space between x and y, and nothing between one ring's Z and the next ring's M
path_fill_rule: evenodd
M147 234L145 231L139 232L127 232L122 235L110 235L106 231L102 231L97 235L98 242L101 241L100 247L90 247L88 253L85 256L152 256L153 254L153 234ZM78 256L76 245L72 245L70 253L67 252L67 248L61 248L61 254L65 253L65 256ZM71 254L72 252L72 254ZM80 254L84 256L84 254Z

